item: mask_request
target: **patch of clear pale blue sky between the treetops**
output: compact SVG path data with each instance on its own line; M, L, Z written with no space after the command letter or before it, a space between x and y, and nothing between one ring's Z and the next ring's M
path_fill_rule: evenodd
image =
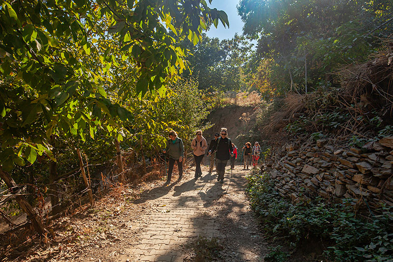
M208 1L206 1L208 2ZM207 31L207 36L218 37L220 40L232 38L235 33L242 34L243 22L240 16L237 14L236 5L239 0L213 0L210 8L217 8L218 10L224 10L228 15L229 29L224 28L224 26L219 23L218 27L215 28L214 25L210 27ZM209 4L209 3L208 3Z

